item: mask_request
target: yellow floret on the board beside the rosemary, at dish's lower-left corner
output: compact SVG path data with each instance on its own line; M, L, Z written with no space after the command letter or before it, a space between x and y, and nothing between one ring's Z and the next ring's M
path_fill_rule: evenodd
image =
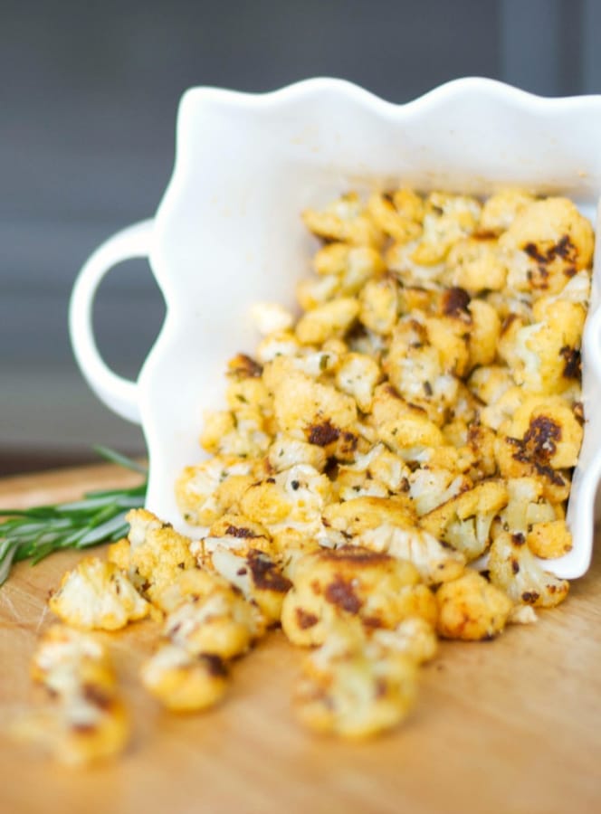
M194 568L191 540L162 523L146 509L130 509L126 515L131 545L131 579L149 601L174 582L182 570Z

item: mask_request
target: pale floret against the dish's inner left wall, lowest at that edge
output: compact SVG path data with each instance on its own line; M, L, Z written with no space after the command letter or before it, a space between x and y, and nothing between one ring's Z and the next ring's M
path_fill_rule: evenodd
M229 501L228 492L220 492L219 487L233 479L235 484L248 487L253 483L252 471L252 461L234 455L215 455L196 466L186 467L176 480L177 507L186 523L214 523L240 497L236 493Z

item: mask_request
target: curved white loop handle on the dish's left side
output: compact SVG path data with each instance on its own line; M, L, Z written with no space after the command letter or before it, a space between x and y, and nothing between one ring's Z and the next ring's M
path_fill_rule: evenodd
M81 268L69 304L69 332L81 373L111 410L138 424L138 383L119 376L105 364L96 345L92 312L100 282L113 266L124 260L148 258L153 225L152 219L134 223L102 243Z

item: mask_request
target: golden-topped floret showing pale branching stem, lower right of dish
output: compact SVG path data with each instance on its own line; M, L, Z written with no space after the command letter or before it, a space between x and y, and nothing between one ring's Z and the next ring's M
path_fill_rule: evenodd
M420 517L419 522L427 532L471 561L486 551L492 521L508 500L507 488L501 481L484 480Z

